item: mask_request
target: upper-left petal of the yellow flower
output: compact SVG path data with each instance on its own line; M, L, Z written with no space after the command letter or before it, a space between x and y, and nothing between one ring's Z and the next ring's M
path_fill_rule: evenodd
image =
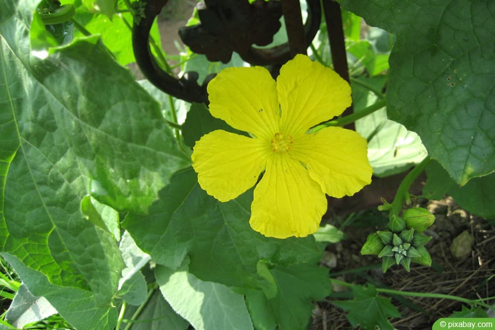
M265 68L227 68L207 89L214 117L258 138L270 140L279 131L277 87Z

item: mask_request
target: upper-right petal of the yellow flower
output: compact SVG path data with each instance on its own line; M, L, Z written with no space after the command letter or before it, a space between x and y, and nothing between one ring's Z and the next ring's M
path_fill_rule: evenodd
M293 137L340 115L351 104L350 86L344 79L300 54L280 69L277 92L281 132Z

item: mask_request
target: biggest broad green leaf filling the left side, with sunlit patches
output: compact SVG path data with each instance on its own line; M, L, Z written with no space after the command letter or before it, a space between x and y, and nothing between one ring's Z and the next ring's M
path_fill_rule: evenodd
M92 193L145 212L189 160L156 101L97 38L38 52L44 59L31 54L36 5L0 4L0 248L109 306L122 258L95 207L86 199L82 212L81 200Z

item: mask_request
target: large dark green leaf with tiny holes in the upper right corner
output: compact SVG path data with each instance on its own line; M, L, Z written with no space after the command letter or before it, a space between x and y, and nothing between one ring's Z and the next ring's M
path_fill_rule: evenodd
M460 185L495 170L495 2L340 0L397 35L389 118L419 134Z

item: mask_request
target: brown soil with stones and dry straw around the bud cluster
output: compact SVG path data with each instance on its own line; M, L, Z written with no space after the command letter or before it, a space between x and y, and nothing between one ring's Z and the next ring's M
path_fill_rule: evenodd
M332 260L331 266L335 265L330 275L342 272L337 278L347 283L371 282L377 287L401 291L443 293L468 299L493 296L495 281L490 281L489 278L495 274L495 227L486 220L461 209L450 197L426 203L427 200L417 200L416 206L427 207L436 217L435 224L426 233L433 236L426 246L432 256L434 267L411 264L411 271L407 273L402 267L393 266L386 274L382 274L380 260L376 256L361 256L359 253L368 234L382 228L347 227L344 232L348 238L327 247L326 256ZM376 218L376 213L368 216ZM386 214L383 216L386 219ZM363 219L366 219L366 215L363 215ZM463 231L467 231L472 237L472 244L466 248L464 257L455 258L450 251L450 245L452 240ZM377 268L355 271L357 268L371 265L377 265ZM347 289L336 286L334 291L336 290ZM404 300L392 299L401 318L393 319L391 322L396 329L404 330L431 329L436 320L447 317L454 311L460 311L462 305L466 305L458 301L438 298L405 296L402 298L412 303L410 307L417 309L406 307ZM334 299L337 298L329 297L317 303L313 315L313 330L352 328L345 312L331 303Z

